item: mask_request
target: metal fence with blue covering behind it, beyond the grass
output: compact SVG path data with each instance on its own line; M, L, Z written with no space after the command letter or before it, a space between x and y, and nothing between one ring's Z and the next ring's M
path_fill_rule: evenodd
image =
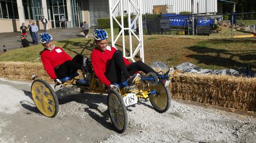
M193 22L194 21L194 22ZM215 37L254 37L256 12L225 15L165 14L143 20L148 35L211 35Z

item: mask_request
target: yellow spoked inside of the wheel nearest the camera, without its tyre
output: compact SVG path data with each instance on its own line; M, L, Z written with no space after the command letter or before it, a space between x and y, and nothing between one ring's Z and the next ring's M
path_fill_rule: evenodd
M125 125L125 115L121 102L114 93L111 93L109 95L108 106L111 119L113 120L113 124L118 130L122 130Z

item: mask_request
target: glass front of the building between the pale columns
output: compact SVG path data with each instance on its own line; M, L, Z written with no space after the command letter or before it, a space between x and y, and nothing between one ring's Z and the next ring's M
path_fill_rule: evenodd
M82 22L81 0L69 0L69 12L67 0L0 0L0 19L19 19L17 1L23 6L24 20L41 20L43 18L42 2L46 1L47 17L52 28L60 27L62 16L66 21L70 20L70 27L80 27ZM22 10L22 9L21 9Z

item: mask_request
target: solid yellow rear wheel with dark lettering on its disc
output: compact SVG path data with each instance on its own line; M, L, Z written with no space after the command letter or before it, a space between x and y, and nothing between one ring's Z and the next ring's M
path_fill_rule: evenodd
M47 117L54 117L59 111L58 98L52 87L44 80L35 80L31 94L38 110Z

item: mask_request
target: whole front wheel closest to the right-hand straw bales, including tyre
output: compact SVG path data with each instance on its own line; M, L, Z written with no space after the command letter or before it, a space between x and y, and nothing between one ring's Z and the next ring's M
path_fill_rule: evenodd
M150 95L150 103L159 113L166 112L171 104L171 94L168 87L162 83L152 86L151 91L155 90L156 94Z

